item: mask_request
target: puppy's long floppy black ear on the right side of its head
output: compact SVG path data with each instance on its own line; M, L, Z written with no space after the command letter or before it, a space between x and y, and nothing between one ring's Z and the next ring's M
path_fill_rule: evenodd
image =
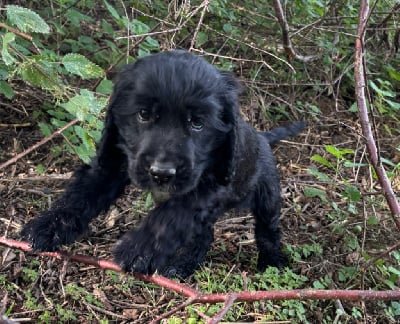
M225 169L222 182L229 183L236 173L236 164L238 160L238 121L240 119L239 112L239 93L242 88L236 78L228 72L220 72L224 82L222 93L223 104L223 121L230 126L228 139L225 142L223 152Z

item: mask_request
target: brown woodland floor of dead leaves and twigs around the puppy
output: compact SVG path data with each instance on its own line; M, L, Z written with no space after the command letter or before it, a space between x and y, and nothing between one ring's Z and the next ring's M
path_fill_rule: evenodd
M35 93L32 89L20 89L12 103L1 101L0 162L42 138L33 118L34 111L41 104ZM308 278L303 287L312 287L313 283L320 282L326 284L325 288L332 289L388 289L385 285L385 281L389 280L388 274L382 267L372 266L364 276L359 275L366 256L378 255L395 244L399 237L383 197L374 193L379 184L373 179L368 166L344 168L342 162L332 159L324 148L325 145L351 148L356 152L351 157L352 161L366 163L356 116L335 111L329 100L318 105L326 112L325 116L321 116L317 123L311 122L310 128L302 135L281 143L275 149L284 197L283 241L293 258L291 268ZM272 127L254 114L254 110L243 110L246 118L257 127ZM400 137L381 135L381 154L395 162L398 157L395 156L393 143L399 143ZM62 191L73 168L79 164L76 157L66 153L57 157L51 154L51 147L59 141L61 138L0 170L0 235L18 239L21 226L51 204ZM318 166L310 159L316 154L337 163L336 171L319 168L331 181L317 180L307 172ZM36 170L39 164L44 166L42 174ZM362 193L360 201L349 203L343 196L343 189L349 183ZM394 186L400 190L398 183ZM319 196L305 195L306 188L319 189ZM322 198L321 193L324 193ZM69 249L99 258L111 258L116 240L140 221L146 214L146 208L145 194L133 187L127 188L126 195L93 223L89 236ZM205 265L187 283L203 290L229 290L239 287L234 283L238 277L257 280L256 249L252 239L251 215L224 215L216 225L215 243ZM2 247L0 252L0 281L3 281L0 282L0 314L9 313L12 318L22 319L21 322L87 323L107 319L109 322L147 323L182 300L158 287L129 277L120 278L91 266L65 263ZM383 260L385 264L396 266L393 256L384 256ZM343 269L355 269L355 272L348 270L353 271L349 274ZM219 271L222 273L220 277ZM216 276L213 279L215 284L224 281L224 288L211 287L213 280L207 282L207 274ZM241 304L233 311L243 321L265 319L266 314L273 314L274 311L263 305ZM279 305L275 311L285 309L285 306ZM335 318L338 309L349 315L342 317L342 322L389 322L384 313L385 305L376 302L303 303L310 322L329 322L329 319ZM296 307L292 306L292 309L296 310ZM362 312L359 319L353 316L354 307ZM50 315L47 316L46 311ZM242 315L238 315L240 312ZM178 316L193 318L195 313L195 310L188 309Z

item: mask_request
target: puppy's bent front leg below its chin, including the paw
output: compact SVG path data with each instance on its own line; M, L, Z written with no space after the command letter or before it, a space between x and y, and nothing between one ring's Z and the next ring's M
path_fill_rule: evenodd
M117 243L116 262L131 272L192 274L213 241L213 224L223 211L218 198L209 198L184 196L161 203Z

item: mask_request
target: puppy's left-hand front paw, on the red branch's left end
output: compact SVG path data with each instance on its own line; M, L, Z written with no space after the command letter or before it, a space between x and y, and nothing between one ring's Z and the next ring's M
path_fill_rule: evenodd
M21 239L34 251L55 251L60 245L74 242L85 230L76 218L63 210L49 210L28 222Z

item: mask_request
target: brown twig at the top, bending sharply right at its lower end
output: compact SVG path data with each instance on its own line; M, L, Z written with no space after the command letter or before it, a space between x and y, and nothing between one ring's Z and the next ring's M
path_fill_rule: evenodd
M317 59L318 55L304 56L296 53L296 50L292 45L292 41L290 40L289 25L287 23L285 13L283 12L282 4L279 0L273 0L272 3L274 5L276 18L278 19L279 25L281 26L283 48L285 49L285 53L288 56L289 61L293 61L294 59L296 59L301 62L310 62Z

